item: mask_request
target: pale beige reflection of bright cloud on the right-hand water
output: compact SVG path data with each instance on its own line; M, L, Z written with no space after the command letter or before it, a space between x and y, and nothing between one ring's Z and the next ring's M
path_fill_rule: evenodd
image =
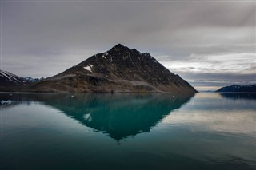
M188 111L184 113L171 113L163 120L171 125L190 125L190 130L194 132L226 132L231 134L254 135L255 114L247 110L246 112L226 112L214 113L214 117L207 112Z

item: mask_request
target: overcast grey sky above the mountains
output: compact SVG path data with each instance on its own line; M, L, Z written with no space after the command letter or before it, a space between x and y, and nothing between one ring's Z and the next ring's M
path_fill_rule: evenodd
M1 69L50 77L121 43L198 90L256 83L256 1L1 0Z

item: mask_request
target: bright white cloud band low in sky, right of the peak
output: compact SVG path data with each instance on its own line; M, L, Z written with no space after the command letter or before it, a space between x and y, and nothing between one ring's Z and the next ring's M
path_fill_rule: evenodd
M162 61L162 59L160 60ZM192 73L255 73L255 53L218 53L197 55L192 53L186 61L171 61L164 57L162 64L174 72Z

